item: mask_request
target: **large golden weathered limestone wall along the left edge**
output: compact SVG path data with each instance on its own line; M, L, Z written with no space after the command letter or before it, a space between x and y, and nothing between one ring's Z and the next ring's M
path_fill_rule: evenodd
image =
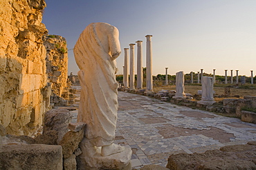
M0 129L7 134L32 134L49 107L45 7L44 0L0 1Z

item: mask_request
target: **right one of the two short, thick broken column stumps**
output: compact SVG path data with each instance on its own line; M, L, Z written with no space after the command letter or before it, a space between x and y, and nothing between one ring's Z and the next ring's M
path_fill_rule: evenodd
M201 105L212 105L213 103L215 103L213 98L212 77L203 76L201 83L202 83L202 99L197 103Z

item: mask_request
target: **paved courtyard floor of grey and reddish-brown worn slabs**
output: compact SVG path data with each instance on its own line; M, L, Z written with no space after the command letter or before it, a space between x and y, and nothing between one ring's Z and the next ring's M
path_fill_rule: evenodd
M115 143L131 147L131 167L167 164L172 153L204 152L256 140L256 125L237 118L118 92ZM74 121L77 110L73 111Z

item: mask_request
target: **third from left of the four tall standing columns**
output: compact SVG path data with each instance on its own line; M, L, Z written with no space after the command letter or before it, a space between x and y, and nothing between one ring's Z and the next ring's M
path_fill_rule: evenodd
M137 43L137 89L143 89L143 41Z

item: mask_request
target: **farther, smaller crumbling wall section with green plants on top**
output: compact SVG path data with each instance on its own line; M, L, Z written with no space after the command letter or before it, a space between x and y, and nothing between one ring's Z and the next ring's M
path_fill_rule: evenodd
M68 78L68 49L66 39L58 35L44 35L46 74L53 93L62 96Z

